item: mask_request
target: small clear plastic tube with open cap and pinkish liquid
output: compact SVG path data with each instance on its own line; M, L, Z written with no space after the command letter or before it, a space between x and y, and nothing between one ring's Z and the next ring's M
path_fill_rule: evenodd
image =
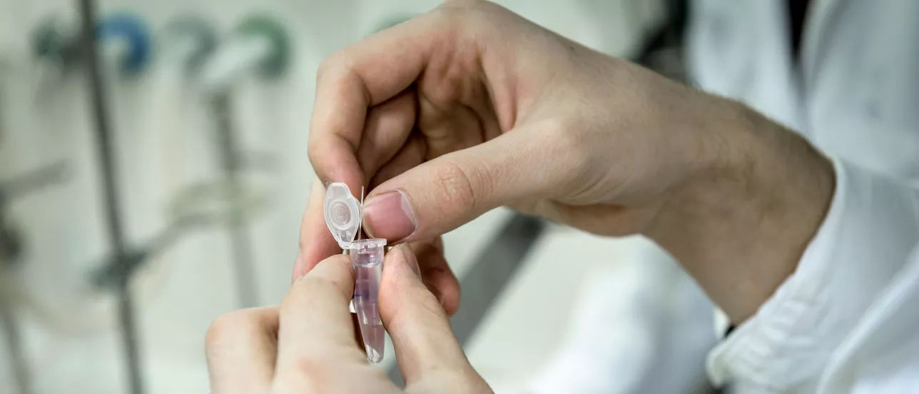
M325 224L342 249L351 256L355 284L352 299L367 359L378 364L383 360L385 331L380 321L380 275L386 240L357 240L360 233L361 207L351 190L343 183L329 184L323 204Z

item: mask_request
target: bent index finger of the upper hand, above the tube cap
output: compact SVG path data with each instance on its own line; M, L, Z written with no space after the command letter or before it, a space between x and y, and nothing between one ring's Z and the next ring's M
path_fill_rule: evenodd
M326 59L317 76L309 154L316 174L359 190L357 160L368 108L403 92L421 74L444 27L420 17L388 28ZM424 34L420 34L423 32Z

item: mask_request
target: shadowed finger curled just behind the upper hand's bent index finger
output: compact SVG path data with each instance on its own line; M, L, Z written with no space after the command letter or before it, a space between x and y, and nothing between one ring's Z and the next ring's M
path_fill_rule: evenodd
M360 145L357 163L364 171L364 184L399 152L414 128L416 110L414 90L392 97L370 108Z

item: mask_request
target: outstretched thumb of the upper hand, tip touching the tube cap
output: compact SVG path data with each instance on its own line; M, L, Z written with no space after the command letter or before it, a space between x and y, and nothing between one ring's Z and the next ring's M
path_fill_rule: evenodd
M364 229L391 242L428 239L510 202L550 197L576 156L559 134L549 127L514 129L395 176L370 193Z

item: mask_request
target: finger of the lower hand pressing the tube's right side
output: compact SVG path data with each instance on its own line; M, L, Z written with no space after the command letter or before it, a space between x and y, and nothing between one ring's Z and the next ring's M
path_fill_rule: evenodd
M453 335L447 314L413 272L406 245L387 254L380 280L380 318L390 333L407 388L425 378L474 374Z

